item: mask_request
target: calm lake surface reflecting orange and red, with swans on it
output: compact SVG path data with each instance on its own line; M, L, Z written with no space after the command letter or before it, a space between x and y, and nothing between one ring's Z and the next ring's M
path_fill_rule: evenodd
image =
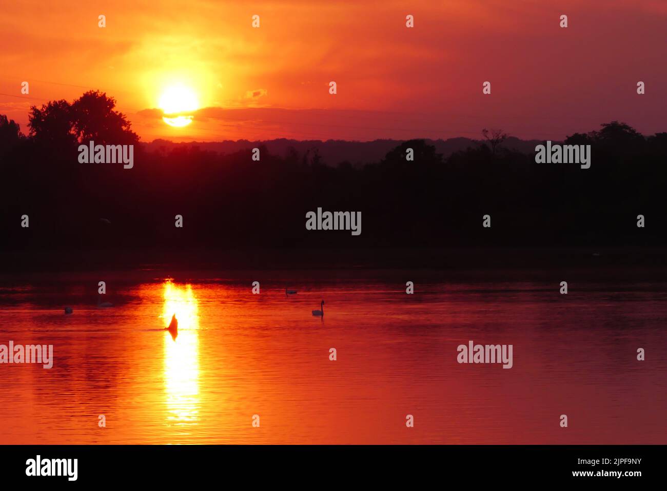
M0 365L0 443L667 443L667 284L436 276L0 277L0 344L55 358ZM468 340L513 344L514 367L458 364Z

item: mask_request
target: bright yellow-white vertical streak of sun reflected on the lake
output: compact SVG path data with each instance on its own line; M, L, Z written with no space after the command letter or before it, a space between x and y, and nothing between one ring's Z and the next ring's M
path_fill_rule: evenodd
M176 314L178 336L164 333L165 403L174 424L196 423L199 415L199 315L192 286L164 283L164 326Z

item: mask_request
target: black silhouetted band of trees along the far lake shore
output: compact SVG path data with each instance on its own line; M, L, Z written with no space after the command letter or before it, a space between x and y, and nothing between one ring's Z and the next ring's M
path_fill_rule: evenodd
M296 151L260 149L253 161L251 151L139 146L133 169L79 163L81 142L138 142L113 107L97 92L33 107L25 136L0 118L2 248L605 247L667 239L667 133L645 137L612 122L568 137L592 145L590 169L537 164L534 153L502 143L444 159L422 140L362 166L323 165L317 154ZM361 211L362 234L307 231L305 214L317 207ZM482 227L486 214L490 229Z

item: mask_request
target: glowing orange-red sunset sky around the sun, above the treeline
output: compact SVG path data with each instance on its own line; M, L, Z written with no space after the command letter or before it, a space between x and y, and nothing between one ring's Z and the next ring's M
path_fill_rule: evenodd
M614 119L644 134L667 131L660 0L0 6L0 114L24 133L30 105L88 89L115 97L142 141L479 138L484 127L562 139ZM491 95L482 95L484 81ZM174 85L199 107L183 128L157 109Z

